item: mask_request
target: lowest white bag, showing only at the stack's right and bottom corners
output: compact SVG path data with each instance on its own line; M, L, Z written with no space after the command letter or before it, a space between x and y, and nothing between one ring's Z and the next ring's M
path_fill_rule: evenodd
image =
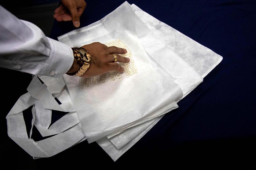
M171 48L175 53L179 54L179 56L192 68L194 68L194 70L203 78L222 60L220 55L214 53L209 48L202 46L193 39L190 39L171 26L157 20L145 11L142 11L135 4L132 4L132 8L136 15L138 15L138 17L150 28L150 30L156 34L159 40L164 42L165 45ZM185 97L187 94L183 95L183 97ZM161 118L162 117L155 118L140 124L140 126L135 126L129 130L123 131L116 136L109 136L109 139L102 138L98 140L97 143L113 160L117 160L143 135L145 135ZM148 124L150 125L148 126ZM131 134L139 135L134 137L134 135Z

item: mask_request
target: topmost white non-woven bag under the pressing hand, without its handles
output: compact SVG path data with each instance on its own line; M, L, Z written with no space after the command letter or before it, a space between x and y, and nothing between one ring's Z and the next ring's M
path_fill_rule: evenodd
M177 108L176 101L203 81L155 38L127 2L100 21L58 39L69 46L120 39L137 68L138 73L130 77L84 89L79 85L84 78L63 76L89 143ZM163 67L165 63L168 68Z

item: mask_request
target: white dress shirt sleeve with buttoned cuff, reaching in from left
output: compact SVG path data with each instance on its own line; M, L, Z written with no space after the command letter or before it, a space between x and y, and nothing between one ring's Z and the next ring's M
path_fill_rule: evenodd
M74 61L68 45L46 37L1 5L0 18L0 67L51 77L68 72Z

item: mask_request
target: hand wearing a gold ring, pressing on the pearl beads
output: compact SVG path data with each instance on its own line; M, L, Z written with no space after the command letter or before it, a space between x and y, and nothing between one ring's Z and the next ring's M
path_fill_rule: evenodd
M118 48L116 46L105 46L99 42L88 44L82 46L85 48L91 55L91 64L87 71L81 77L93 77L96 75L101 75L107 73L108 71L118 71L120 73L124 72L124 67L121 67L118 63L114 63L115 60L112 54L116 54L117 62L128 63L130 62L129 58L122 57L118 54L127 53L126 49ZM72 67L68 73L75 73L79 70L79 66L74 61Z

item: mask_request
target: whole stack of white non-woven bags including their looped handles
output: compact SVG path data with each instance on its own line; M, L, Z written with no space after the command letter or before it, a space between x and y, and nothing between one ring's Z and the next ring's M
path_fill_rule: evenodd
M53 156L87 139L116 161L165 113L195 89L222 57L136 5L124 2L91 25L58 37L70 47L101 42L127 48L125 73L93 78L63 75L33 78L7 115L8 135L36 158ZM62 104L58 104L54 98ZM23 110L32 107L28 137ZM52 110L69 112L51 126ZM172 114L172 112L168 113Z

